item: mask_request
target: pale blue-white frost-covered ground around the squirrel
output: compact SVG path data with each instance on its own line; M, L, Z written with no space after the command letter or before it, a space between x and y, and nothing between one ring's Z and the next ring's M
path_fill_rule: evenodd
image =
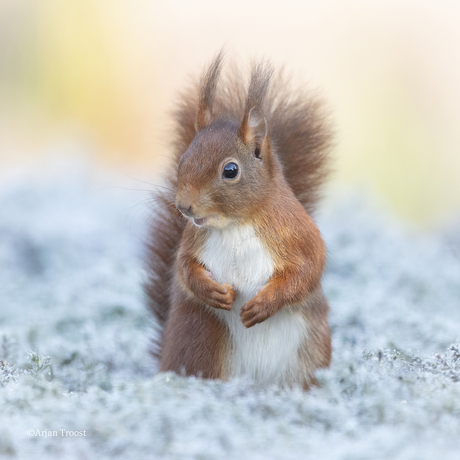
M70 167L2 181L0 457L460 458L459 233L328 205L332 366L258 389L156 375L132 195Z

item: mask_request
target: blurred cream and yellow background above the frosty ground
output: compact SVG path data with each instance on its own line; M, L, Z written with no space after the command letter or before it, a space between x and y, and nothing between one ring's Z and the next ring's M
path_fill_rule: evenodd
M435 228L460 210L459 23L454 1L2 0L0 172L74 145L154 177L176 92L225 45L320 90L333 184Z

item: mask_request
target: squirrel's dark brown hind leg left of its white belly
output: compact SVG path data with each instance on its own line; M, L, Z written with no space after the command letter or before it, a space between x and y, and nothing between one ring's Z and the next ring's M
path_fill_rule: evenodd
M226 326L198 301L183 293L174 297L163 334L160 371L224 379Z

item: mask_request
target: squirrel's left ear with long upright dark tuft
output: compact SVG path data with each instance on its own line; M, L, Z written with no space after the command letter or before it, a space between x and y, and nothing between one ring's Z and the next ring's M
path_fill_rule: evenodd
M223 58L224 52L220 51L208 67L208 70L201 77L195 122L195 129L197 132L205 128L211 122L212 105L214 96L216 95L217 82L219 80Z

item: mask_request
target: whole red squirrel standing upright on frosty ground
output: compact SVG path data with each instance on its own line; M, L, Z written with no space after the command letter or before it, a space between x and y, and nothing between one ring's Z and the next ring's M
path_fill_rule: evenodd
M160 371L308 389L331 359L326 250L310 217L330 125L269 63L249 81L222 65L219 53L174 112L148 245L152 353Z

